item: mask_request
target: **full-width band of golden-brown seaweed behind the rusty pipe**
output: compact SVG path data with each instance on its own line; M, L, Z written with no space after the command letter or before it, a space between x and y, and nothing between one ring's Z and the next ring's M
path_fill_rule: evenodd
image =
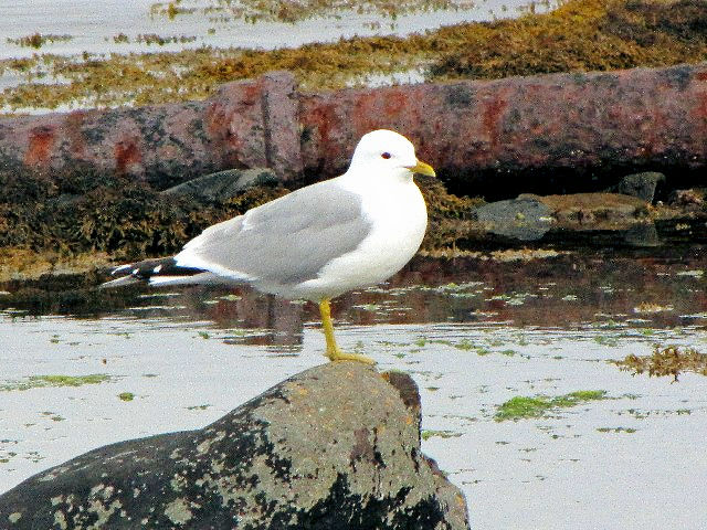
M118 35L119 38L119 35ZM700 0L569 0L545 14L465 23L424 34L342 39L298 49L35 54L0 61L23 77L0 107L147 105L209 97L220 83L292 71L300 89L366 84L370 74L425 71L429 81L668 66L707 60ZM35 81L36 76L61 82Z

